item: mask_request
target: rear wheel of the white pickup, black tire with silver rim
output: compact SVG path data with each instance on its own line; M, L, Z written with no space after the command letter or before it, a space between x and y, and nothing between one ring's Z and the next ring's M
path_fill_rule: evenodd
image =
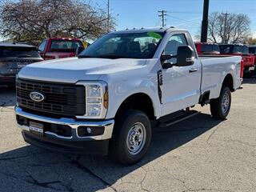
M224 99L228 99L228 103L225 106L222 105L222 102L225 102ZM210 113L213 118L217 118L219 120L225 120L227 115L230 113L231 106L231 92L230 88L227 86L223 86L221 90L221 94L218 98L214 98L210 100Z

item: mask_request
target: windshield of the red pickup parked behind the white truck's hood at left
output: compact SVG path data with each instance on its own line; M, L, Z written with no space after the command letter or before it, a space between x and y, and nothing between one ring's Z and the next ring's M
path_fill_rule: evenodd
M50 44L50 52L75 53L78 46L82 46L82 42L68 40L52 40Z

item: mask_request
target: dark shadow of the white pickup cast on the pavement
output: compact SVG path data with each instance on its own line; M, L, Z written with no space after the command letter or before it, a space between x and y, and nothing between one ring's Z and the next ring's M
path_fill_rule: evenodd
M157 161L162 155L192 141L219 123L209 114L198 114L170 128L154 128L146 157L129 167L121 166L109 157L55 154L34 146L10 150L0 154L0 191L88 192L108 186L117 191L112 185L122 182L120 178L128 174L132 177L135 171L142 170L142 166Z

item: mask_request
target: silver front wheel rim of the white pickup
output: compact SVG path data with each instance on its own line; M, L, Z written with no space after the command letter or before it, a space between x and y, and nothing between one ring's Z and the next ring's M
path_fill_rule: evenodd
M130 128L126 144L130 154L138 154L142 151L146 142L146 128L141 122L136 122Z

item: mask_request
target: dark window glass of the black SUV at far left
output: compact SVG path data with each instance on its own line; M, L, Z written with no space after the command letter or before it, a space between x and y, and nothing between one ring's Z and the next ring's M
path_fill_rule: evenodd
M0 46L0 58L40 58L40 55L33 46Z

